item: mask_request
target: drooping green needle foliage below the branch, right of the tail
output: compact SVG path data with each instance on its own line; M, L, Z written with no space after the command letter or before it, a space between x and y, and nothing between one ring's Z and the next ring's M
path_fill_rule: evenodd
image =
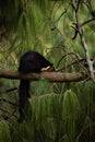
M71 90L64 86L63 94L33 96L28 103L27 120L22 125L13 123L19 137L12 142L94 141L95 86L88 82L84 86L74 83L68 87ZM14 132L11 134L14 138Z

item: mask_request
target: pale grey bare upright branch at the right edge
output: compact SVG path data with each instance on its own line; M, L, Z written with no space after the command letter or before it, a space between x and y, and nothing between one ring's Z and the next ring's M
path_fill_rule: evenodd
M76 3L74 3L72 1L72 7L74 9L74 12L75 12L75 19L76 19L76 31L75 31L75 35L73 37L73 39L76 37L76 34L79 33L80 35L80 40L81 40L81 44L83 46L83 49L85 51L85 57L86 57L86 62L87 62L87 66L88 66L88 71L90 71L90 76L92 79L93 82L95 82L94 78L94 69L93 69L93 61L91 61L91 58L90 58L90 54L88 54L88 47L87 47L87 44L86 44L86 40L85 40L85 37L84 37L84 33L83 33L83 28L82 28L82 24L81 24L81 20L80 20L80 4L81 4L81 0L78 0ZM84 23L85 24L85 23Z

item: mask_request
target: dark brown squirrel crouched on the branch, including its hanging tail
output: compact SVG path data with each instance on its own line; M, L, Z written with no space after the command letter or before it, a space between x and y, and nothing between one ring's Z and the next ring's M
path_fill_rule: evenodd
M41 72L41 71L54 71L54 64L45 59L40 54L29 50L25 52L20 60L19 72L29 73L29 72ZM25 106L29 98L29 87L31 81L21 80L19 87L19 122L22 122L25 118Z

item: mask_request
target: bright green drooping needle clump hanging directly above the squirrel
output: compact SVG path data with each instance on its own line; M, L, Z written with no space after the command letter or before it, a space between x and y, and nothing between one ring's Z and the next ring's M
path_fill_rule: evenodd
M45 29L46 25L45 15L36 3L31 3L26 12L21 14L19 21L17 34L21 38L23 48L32 48L35 44L35 38L39 43L41 39L40 33Z

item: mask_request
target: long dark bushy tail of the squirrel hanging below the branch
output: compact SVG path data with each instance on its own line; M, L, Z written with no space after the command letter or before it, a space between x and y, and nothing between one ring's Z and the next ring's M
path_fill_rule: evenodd
M29 81L21 80L19 88L19 122L22 122L26 118L25 106L29 97Z

